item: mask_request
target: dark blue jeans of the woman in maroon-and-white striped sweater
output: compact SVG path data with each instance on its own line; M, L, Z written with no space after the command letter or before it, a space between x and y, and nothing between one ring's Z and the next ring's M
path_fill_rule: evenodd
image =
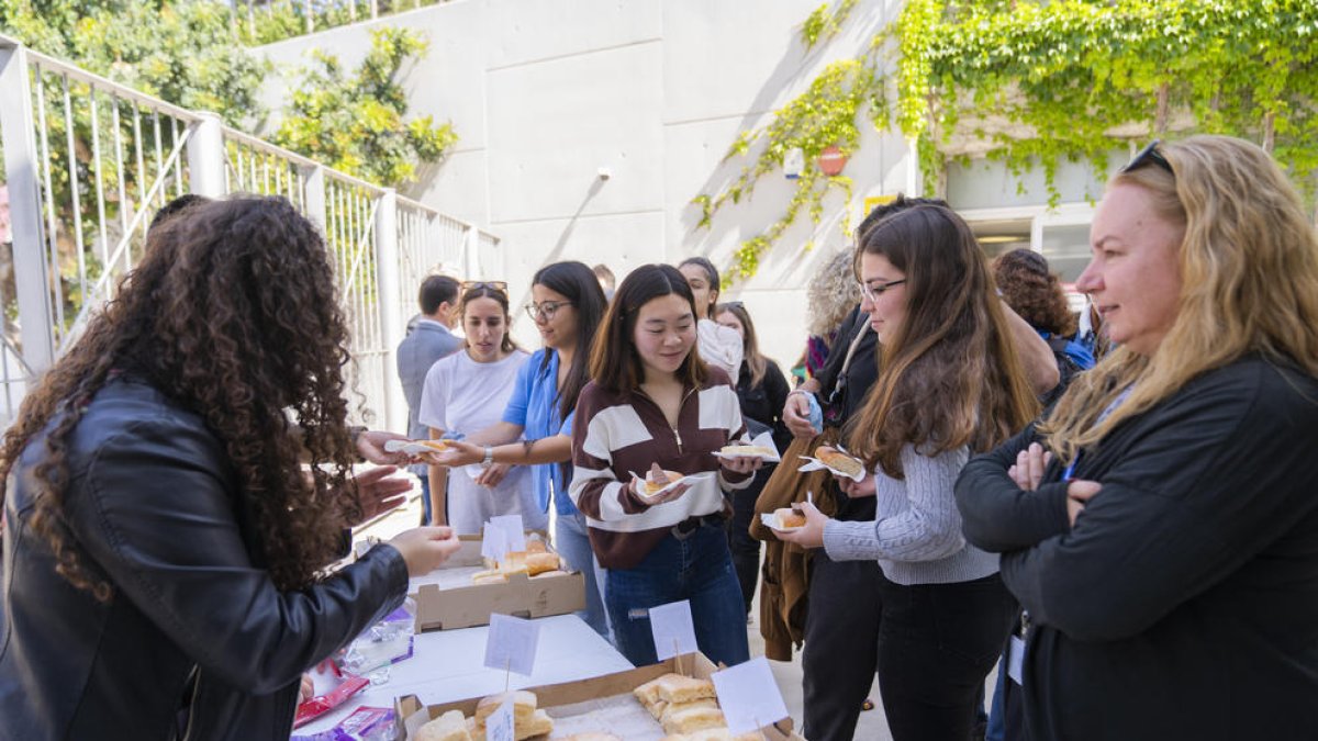
M634 568L609 570L604 601L627 661L635 666L658 661L650 608L679 600L691 600L696 645L709 661L734 666L750 658L746 605L721 526L697 527L681 541L668 535Z

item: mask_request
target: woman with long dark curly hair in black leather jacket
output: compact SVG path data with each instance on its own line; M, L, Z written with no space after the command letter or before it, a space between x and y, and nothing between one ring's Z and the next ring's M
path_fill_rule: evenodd
M286 737L302 672L456 550L423 527L327 571L393 471L352 479L345 344L286 200L152 229L0 450L0 737Z

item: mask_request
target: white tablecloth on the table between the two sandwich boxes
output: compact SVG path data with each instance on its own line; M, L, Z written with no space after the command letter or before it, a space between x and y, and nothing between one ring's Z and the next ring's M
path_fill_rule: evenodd
M631 668L622 654L575 614L542 617L536 622L540 636L535 674L513 674L507 678L510 688L575 682ZM390 667L387 683L368 687L294 733L330 730L360 707L391 708L394 697L402 695L416 695L422 703L432 705L502 692L507 675L502 670L485 668L488 634L489 626L418 634L413 657ZM318 678L318 694L331 687Z

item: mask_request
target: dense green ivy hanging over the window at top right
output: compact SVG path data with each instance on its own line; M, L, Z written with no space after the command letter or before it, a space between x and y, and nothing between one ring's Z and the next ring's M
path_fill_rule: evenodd
M1101 171L1131 140L1206 132L1261 144L1311 193L1311 0L917 0L896 33L899 124L933 181L936 145L969 133L1014 173L1041 166L1056 203L1062 161ZM987 111L1007 125L986 127Z

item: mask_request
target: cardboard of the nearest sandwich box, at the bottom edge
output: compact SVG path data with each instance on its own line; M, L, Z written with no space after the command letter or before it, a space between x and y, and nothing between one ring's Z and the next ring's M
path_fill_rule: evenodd
M699 653L681 657L680 666L681 671L679 674L687 674L699 679L709 679L710 674L720 670L720 667L714 666L714 663L710 662L704 654ZM540 687L526 687L525 690L535 692L538 707L554 708L558 705L571 705L600 697L612 697L614 695L630 695L633 690L646 682L650 682L651 679L656 679L670 672L677 672L677 667L679 659L668 659L662 663L643 666L629 671L605 674L593 679L564 682L561 684L543 684ZM422 709L427 712L427 720L434 720L448 711L461 711L464 716L471 717L476 715L476 704L480 700L481 697L469 697L456 703L423 705L416 695L405 695L398 697L394 700L394 716L398 724L398 734L395 738L397 741L411 741L407 736L406 721ZM805 741L792 729L791 717L786 717L774 725L766 725L760 729L760 733L766 741Z

